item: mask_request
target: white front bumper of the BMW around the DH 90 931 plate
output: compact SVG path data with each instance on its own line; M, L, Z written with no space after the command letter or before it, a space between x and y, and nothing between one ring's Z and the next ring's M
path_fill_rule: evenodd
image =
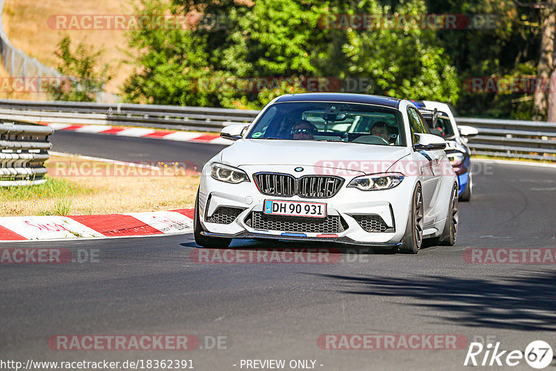
M251 178L252 179L252 178ZM411 195L416 179L406 177L399 186L389 190L363 192L346 188L346 179L338 193L327 199L307 199L298 196L277 197L263 195L253 181L239 184L216 181L210 174L202 174L199 186L199 220L204 234L225 238L268 238L274 240L299 240L341 242L348 245L369 245L377 247L396 247L400 244L407 224ZM339 217L343 225L341 231L334 233L311 232L303 228L292 230L257 229L250 225L252 213L263 213L265 199L282 201L309 201L327 204L327 217ZM241 209L240 214L229 224L209 222L218 208ZM366 231L354 215L379 215L388 227L386 231ZM286 220L318 220L319 218L286 217ZM310 229L310 228L309 228Z

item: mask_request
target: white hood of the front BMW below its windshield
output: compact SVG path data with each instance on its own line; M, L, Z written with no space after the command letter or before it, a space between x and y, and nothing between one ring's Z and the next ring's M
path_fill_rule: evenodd
M407 147L386 145L309 140L243 139L222 150L221 160L222 163L236 167L286 165L288 167L327 167L369 173L363 162L381 163L382 170L387 170L389 167L387 164L393 164L407 154L409 154Z

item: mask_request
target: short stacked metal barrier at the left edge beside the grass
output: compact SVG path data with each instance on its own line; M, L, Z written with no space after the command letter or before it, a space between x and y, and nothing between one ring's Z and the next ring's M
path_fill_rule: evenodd
M28 122L0 123L0 187L44 183L44 161L52 147L49 126Z

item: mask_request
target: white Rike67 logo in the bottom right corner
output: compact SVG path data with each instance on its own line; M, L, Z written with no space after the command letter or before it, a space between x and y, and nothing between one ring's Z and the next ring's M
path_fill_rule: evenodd
M482 343L471 343L465 357L464 366L481 365L481 366L502 366L510 367L519 365L525 359L532 368L541 370L550 365L552 361L552 347L542 340L535 340L529 343L525 348L525 353L521 350L500 350L500 342L495 345L491 343L482 345ZM520 368L521 369L521 368Z

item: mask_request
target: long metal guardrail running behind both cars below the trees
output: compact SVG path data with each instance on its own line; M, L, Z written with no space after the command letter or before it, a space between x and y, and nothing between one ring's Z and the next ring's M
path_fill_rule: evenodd
M229 124L250 123L257 110L97 104L67 101L0 100L0 119L67 124L108 124L189 131L220 131ZM556 123L456 117L475 127L469 140L474 154L556 161Z

